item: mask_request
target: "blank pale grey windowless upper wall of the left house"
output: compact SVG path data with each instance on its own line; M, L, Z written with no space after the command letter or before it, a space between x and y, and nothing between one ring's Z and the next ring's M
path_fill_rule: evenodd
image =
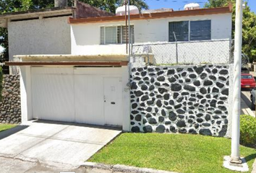
M70 54L68 17L8 22L9 60L17 55ZM12 71L11 71L12 73Z

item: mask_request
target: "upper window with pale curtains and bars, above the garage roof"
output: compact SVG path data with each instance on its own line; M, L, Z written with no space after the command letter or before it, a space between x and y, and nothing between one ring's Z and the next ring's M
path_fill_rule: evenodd
M135 43L135 27L130 25L131 43ZM129 43L128 26L101 27L101 45Z

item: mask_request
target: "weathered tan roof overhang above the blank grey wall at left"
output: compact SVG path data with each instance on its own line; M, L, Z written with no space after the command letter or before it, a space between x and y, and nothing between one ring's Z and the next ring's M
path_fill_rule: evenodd
M8 20L33 19L35 17L58 17L58 16L72 16L73 7L54 7L51 9L36 9L25 12L11 12L0 15L0 27L7 27Z

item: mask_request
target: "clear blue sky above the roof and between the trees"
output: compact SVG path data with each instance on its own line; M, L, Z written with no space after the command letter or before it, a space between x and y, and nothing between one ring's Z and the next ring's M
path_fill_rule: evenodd
M145 0L150 9L161 9L161 8L171 8L174 10L183 9L185 4L198 3L201 7L204 6L205 2L208 0ZM253 12L256 13L256 1L255 0L245 0L248 1L248 5Z

